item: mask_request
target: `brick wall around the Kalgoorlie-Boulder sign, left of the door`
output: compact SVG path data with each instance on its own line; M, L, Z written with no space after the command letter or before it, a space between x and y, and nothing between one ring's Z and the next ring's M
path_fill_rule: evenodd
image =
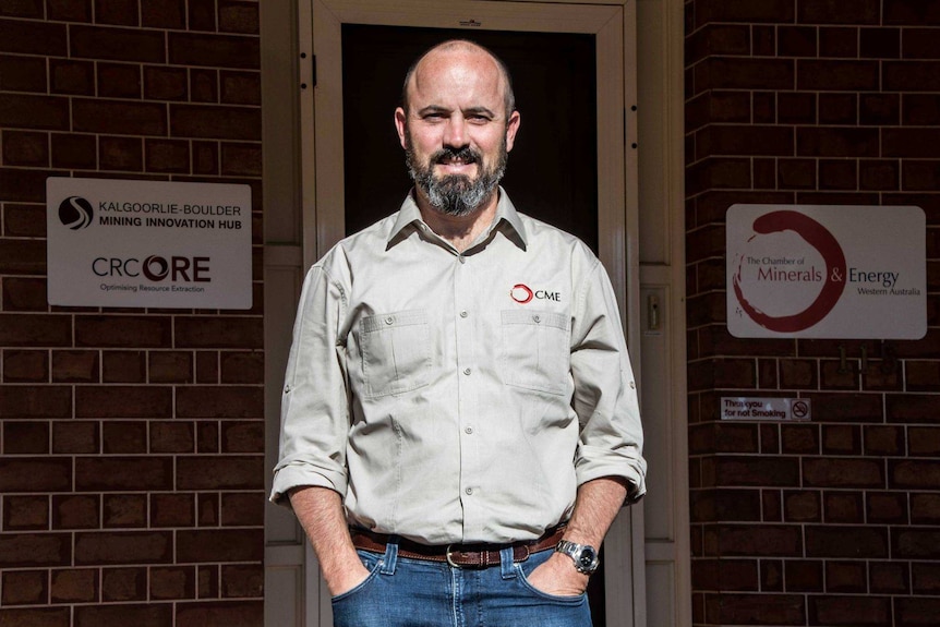
M257 1L0 2L0 625L262 625L248 312L50 308L48 176L248 183Z

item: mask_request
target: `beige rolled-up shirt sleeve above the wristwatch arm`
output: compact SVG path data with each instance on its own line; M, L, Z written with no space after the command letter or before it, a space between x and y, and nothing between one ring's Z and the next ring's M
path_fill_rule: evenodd
M580 421L578 484L602 477L628 482L627 501L646 493L647 462L637 385L610 278L598 263L582 284L571 326L571 405Z

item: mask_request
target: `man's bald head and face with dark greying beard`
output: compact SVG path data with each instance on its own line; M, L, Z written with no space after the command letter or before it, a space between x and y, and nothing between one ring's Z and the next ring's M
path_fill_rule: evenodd
M519 123L504 94L498 67L479 50L432 52L415 71L396 126L415 188L438 212L468 215L494 197Z

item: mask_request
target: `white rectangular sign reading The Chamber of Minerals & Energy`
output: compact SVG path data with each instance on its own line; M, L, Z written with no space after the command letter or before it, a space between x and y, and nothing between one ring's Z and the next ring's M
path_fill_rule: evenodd
M927 333L919 207L733 205L725 236L727 328L735 337Z

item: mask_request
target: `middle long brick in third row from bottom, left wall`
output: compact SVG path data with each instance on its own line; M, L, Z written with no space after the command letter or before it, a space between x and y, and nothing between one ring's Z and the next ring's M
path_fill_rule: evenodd
M166 531L93 531L75 533L75 565L167 564L172 535Z

